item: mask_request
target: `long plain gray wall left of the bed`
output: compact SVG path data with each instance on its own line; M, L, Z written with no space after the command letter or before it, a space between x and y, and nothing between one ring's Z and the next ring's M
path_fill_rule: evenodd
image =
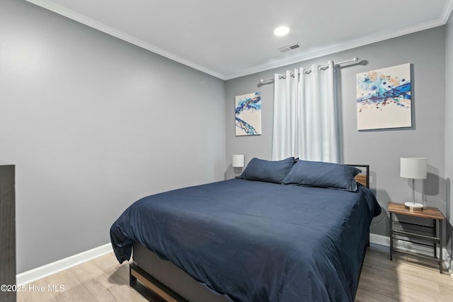
M0 1L0 158L18 273L110 242L136 199L224 178L224 81L25 1Z

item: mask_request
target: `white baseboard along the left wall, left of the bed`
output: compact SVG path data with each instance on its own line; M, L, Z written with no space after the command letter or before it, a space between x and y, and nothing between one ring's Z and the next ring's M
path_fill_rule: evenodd
M70 267L74 267L84 262L93 260L96 257L100 257L112 251L113 249L111 243L107 243L105 245L99 246L98 248L86 250L85 252L81 252L79 254L64 258L62 260L49 263L48 265L43 265L42 267L30 269L27 272L22 272L21 274L16 275L16 284L17 285L28 284L38 279L50 276L51 274L61 272L64 269L69 269Z

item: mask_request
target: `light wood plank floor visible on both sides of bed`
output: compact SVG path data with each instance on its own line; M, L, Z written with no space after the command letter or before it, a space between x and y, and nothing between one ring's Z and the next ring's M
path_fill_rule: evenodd
M147 301L129 286L128 268L119 265L113 252L64 272L54 274L19 292L17 301ZM49 291L49 286L64 291ZM44 286L45 291L37 289ZM54 287L54 288L55 288ZM437 267L427 267L372 246L357 290L356 301L453 301L453 279Z

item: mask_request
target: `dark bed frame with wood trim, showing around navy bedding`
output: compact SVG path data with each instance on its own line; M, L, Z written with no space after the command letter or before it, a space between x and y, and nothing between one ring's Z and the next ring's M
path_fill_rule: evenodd
M360 168L362 173L355 180L369 187L369 165L352 165ZM365 171L364 171L365 170ZM357 287L360 281L367 244L363 250L362 265L360 266ZM217 294L207 286L190 277L172 262L161 260L151 250L139 243L133 246L133 261L130 264L130 286L149 301L168 302L225 302L230 301L226 296ZM357 290L356 287L356 290Z

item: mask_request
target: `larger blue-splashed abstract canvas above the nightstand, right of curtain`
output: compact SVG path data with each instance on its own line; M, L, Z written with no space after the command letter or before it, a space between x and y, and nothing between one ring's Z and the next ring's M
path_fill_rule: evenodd
M411 64L357 74L357 129L412 127Z

